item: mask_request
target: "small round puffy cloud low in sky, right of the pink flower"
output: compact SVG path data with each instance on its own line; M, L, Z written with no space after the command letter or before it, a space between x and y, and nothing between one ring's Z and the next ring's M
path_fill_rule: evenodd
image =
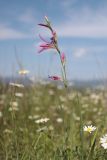
M76 48L73 50L73 56L76 58L83 57L87 54L87 49L85 48Z

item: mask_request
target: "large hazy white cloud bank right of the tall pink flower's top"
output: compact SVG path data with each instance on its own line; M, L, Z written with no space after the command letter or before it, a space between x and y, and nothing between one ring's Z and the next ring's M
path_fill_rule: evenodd
M107 11L84 7L70 13L62 24L56 26L59 36L107 38Z

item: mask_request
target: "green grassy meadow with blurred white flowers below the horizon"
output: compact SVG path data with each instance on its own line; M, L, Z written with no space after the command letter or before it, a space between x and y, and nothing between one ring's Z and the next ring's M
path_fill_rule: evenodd
M102 90L66 90L53 84L1 85L0 160L107 160L99 143L107 133L106 97ZM18 111L9 111L13 101ZM48 122L35 123L45 117ZM98 130L84 132L83 126L91 124Z

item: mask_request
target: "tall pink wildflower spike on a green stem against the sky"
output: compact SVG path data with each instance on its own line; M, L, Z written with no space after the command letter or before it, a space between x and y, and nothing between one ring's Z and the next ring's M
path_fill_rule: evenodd
M51 38L50 41L48 42L47 40L45 40L41 35L39 35L40 39L44 42L40 45L40 50L39 53L47 50L47 49L55 49L60 57L60 62L61 62L61 69L62 69L62 80L64 83L64 86L67 87L67 80L66 80L66 70L65 70L65 54L62 53L59 49L58 46L58 41L57 41L57 34L54 31L54 29L51 26L50 21L48 20L48 18L45 16L45 23L40 23L39 24L42 27L48 28L51 32ZM50 79L52 80L61 80L60 77L57 76L49 76Z

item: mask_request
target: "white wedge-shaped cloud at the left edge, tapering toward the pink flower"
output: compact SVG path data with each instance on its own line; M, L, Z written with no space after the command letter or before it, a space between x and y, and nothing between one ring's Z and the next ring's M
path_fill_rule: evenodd
M13 29L9 26L0 24L0 40L7 40L7 39L24 39L29 38L28 34L20 32L16 29Z

